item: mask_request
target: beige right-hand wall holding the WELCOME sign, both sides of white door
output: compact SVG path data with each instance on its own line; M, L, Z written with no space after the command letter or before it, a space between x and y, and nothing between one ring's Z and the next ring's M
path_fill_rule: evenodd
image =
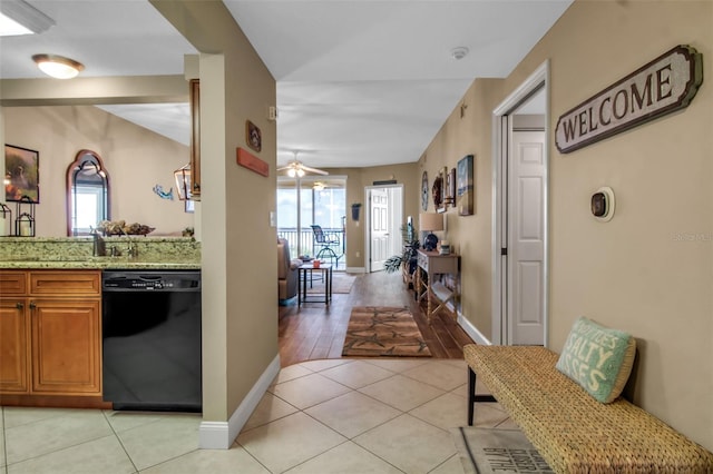
M490 256L487 116L545 60L550 63L549 136L557 118L676 45L703 53L713 77L713 2L576 1L504 81L456 113L427 150L429 175L476 155L476 216L451 217L463 254L465 316L490 333L482 287ZM706 79L707 80L707 79ZM477 80L469 95L480 91ZM468 100L469 96L466 96ZM632 333L638 343L634 402L713 450L713 89L691 106L568 155L549 146L549 340L560 350L575 318ZM462 135L462 134L467 135ZM460 135L460 138L453 136ZM433 161L437 161L436 164ZM441 162L448 161L448 162ZM431 175L430 175L431 176ZM589 197L616 194L616 215L593 218ZM451 226L451 221L456 226ZM482 278L480 278L482 276ZM475 295L478 295L477 297ZM479 298L481 298L479 300Z

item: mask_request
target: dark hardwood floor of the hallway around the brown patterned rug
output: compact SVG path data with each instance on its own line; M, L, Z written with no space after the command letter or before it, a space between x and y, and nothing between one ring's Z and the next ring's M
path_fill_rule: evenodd
M354 306L406 306L410 308L433 357L462 358L462 346L472 339L450 315L439 312L429 326L424 309L413 299L401 274L384 271L356 276L350 294L334 294L332 304L296 300L280 307L280 359L282 366L304 361L340 358L346 325Z

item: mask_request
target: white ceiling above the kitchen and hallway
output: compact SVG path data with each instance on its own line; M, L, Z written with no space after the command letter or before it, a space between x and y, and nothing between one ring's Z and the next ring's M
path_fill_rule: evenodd
M472 80L507 77L572 1L224 3L277 81L277 164L299 151L313 167L365 167L417 161ZM42 77L36 53L101 77L182 75L197 52L148 1L27 2L56 24L0 38L2 79ZM468 55L455 59L457 47ZM185 103L102 108L188 144Z

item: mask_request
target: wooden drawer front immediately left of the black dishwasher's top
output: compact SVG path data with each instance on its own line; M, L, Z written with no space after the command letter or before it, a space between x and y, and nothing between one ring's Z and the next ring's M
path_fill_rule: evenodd
M76 296L101 294L100 271L30 271L30 294Z

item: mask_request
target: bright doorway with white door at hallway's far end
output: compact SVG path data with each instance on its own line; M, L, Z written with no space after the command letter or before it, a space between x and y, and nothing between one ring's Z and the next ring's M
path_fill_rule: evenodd
M364 266L367 273L381 271L389 257L401 255L403 239L403 185L368 186L364 213Z

